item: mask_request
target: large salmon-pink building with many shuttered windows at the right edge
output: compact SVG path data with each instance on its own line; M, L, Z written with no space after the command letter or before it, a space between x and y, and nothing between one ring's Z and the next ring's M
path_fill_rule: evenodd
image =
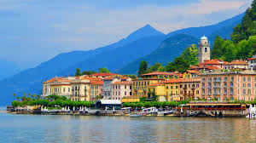
M206 100L256 100L256 72L201 73L201 94Z

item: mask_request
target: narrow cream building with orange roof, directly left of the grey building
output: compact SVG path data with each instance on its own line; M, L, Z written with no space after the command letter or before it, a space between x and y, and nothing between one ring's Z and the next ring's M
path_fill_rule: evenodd
M90 83L90 100L102 99L103 80L96 83Z

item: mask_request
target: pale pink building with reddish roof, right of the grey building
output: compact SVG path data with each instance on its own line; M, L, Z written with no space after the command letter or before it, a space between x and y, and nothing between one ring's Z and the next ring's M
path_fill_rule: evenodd
M122 100L123 97L131 96L131 81L120 81L112 83L112 100Z

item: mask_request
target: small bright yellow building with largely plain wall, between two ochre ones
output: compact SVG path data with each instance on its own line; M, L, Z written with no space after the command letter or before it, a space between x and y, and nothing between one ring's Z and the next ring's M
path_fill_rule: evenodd
M166 85L163 82L149 84L147 87L148 99L156 98L157 101L166 101Z

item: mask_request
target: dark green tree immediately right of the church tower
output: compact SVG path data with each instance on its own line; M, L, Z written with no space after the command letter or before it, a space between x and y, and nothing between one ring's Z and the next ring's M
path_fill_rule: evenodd
M211 58L219 59L223 54L222 45L224 44L224 39L216 36L214 40L214 44L211 50Z

